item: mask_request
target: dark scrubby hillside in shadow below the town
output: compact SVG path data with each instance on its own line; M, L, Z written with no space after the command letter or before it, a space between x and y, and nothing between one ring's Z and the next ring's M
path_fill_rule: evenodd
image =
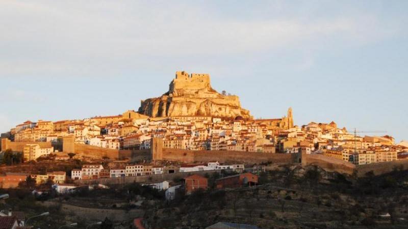
M396 168L382 176L369 173L355 178L314 166L273 165L271 171L260 174L261 185L257 187L215 190L218 176L209 177L209 190L191 195L180 190L171 202L165 201L164 192L133 183L40 199L29 190L0 190L10 194L0 208L23 211L28 217L49 211L52 217L32 222L36 228L71 222L85 228L92 221L86 214L71 214L59 205L44 207L43 201L101 210L137 210L144 212L144 226L154 229L206 228L219 221L260 228L407 228L408 171ZM380 216L387 213L387 217ZM106 220L99 228L132 228L134 218Z

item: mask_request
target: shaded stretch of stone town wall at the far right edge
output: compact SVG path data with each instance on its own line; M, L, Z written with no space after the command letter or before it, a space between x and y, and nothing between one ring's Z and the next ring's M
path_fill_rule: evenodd
M397 161L381 162L374 164L358 165L357 176L364 177L369 171L373 171L374 175L381 175L390 173L396 168L408 169L408 159L402 159Z

